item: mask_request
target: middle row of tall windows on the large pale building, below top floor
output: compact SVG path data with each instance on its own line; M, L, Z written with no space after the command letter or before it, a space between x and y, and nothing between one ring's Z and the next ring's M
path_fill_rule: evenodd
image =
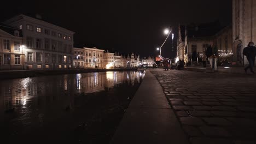
M27 40L26 40L27 47L34 47L33 41L34 41L33 38L27 37ZM63 44L61 41L45 38L44 47L42 45L43 45L43 40L36 39L36 49L72 53L72 45Z

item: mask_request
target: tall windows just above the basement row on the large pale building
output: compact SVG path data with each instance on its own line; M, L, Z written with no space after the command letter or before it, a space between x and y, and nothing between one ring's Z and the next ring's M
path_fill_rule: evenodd
M57 63L72 63L72 57L69 56L67 59L67 56L62 55L55 55L50 53L44 53L44 62L45 63L55 63L57 58ZM36 52L36 62L42 62L43 61L43 53ZM34 62L34 52L28 52L27 53L27 62Z

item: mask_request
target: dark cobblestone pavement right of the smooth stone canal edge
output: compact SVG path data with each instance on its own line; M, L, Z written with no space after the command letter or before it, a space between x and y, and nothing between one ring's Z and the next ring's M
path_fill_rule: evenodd
M256 76L151 69L191 143L256 143Z

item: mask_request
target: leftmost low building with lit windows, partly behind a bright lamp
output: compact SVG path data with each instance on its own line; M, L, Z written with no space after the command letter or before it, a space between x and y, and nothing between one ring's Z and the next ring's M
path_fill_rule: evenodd
M0 70L24 69L22 43L19 29L0 24Z

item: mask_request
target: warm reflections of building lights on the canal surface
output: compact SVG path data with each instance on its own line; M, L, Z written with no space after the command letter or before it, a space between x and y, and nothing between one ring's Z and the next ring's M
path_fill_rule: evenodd
M9 127L8 130L16 129L17 125L38 127L55 121L53 118L65 116L63 109L67 106L75 111L80 100L75 100L77 93L107 92L114 87L118 89L118 85L124 83L132 88L141 83L143 77L144 71L108 71L0 81L0 126Z

